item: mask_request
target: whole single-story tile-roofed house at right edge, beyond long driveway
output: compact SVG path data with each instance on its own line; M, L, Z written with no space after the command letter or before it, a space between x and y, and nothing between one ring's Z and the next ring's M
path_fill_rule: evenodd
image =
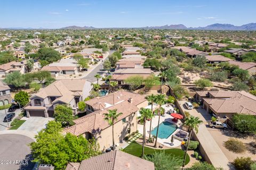
M195 99L214 116L256 115L256 96L245 91L196 91Z

